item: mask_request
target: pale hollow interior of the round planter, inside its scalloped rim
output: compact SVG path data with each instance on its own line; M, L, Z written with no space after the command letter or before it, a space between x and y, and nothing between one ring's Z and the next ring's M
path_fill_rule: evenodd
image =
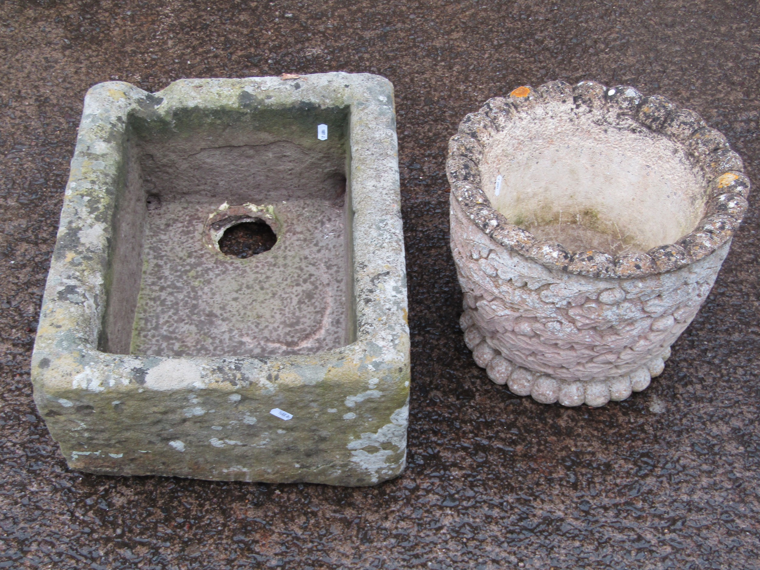
M676 142L560 113L516 117L489 141L480 171L497 211L570 251L618 255L673 243L695 228L707 198Z

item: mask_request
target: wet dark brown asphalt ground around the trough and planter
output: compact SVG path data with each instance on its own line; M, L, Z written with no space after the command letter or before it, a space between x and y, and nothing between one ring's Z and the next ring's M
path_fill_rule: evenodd
M0 568L760 568L758 207L651 388L592 410L493 385L458 330L445 149L521 84L632 84L760 180L758 3L0 2ZM374 488L65 466L29 359L82 98L109 79L370 71L396 87L413 385Z

